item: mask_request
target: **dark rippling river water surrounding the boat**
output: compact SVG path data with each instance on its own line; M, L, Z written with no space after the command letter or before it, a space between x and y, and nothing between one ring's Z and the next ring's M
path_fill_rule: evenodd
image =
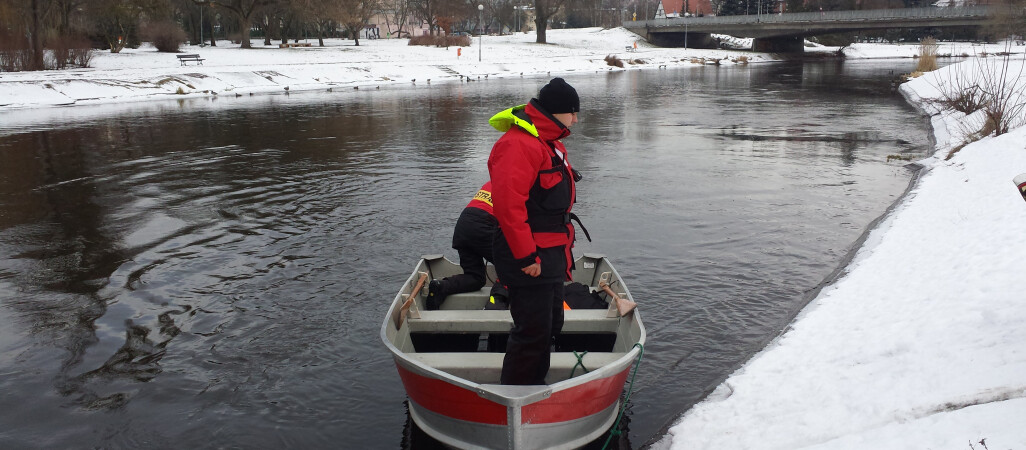
M569 75L648 328L621 448L783 330L930 151L914 62ZM0 447L430 448L379 338L547 81L0 114Z

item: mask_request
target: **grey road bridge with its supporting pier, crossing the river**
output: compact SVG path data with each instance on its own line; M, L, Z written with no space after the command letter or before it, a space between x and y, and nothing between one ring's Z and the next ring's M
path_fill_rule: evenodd
M625 22L624 28L661 47L714 48L712 34L754 38L756 51L801 52L806 36L889 28L984 25L989 6L786 12Z

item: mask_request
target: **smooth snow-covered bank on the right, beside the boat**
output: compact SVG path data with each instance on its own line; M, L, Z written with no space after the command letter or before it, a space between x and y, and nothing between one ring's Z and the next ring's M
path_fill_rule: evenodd
M1026 127L945 160L972 118L930 101L973 64L902 86L933 115L921 178L845 273L656 448L1026 448L1026 202L1012 181Z

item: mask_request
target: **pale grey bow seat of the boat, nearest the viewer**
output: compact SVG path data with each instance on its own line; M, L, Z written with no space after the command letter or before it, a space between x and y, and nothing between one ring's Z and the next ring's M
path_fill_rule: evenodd
M622 358L623 353L589 352L581 358L588 371L598 369ZM478 383L498 383L503 370L501 353L407 353L411 360L420 361L434 369L459 376ZM562 381L570 377L587 373L578 366L578 357L571 352L553 352L549 363L549 374L545 377L548 383Z

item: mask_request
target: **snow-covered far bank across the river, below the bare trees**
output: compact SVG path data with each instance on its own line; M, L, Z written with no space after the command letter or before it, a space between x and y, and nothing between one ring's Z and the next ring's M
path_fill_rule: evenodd
M0 73L0 112L5 110L95 105L196 96L249 95L326 89L427 86L485 78L658 70L708 64L764 63L778 55L741 50L660 48L623 28L549 30L549 44L536 44L535 33L484 36L470 47L438 48L407 45L405 39L327 40L325 47L265 47L242 50L227 41L218 47L184 46L203 64L180 65L177 57L145 44L121 53L97 51L91 68L66 71ZM628 51L627 47L636 51ZM951 54L991 51L968 43L944 44ZM997 48L994 46L994 48ZM831 52L836 48L810 48ZM856 44L850 57L911 57L914 44ZM624 69L604 60L624 60ZM479 60L480 59L480 60Z

